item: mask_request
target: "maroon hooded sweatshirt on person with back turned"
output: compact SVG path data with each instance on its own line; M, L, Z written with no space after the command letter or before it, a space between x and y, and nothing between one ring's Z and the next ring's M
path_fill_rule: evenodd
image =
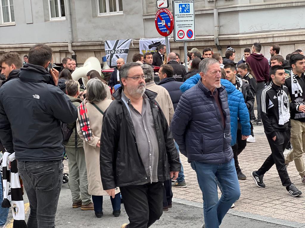
M269 63L263 54L252 53L247 58L246 63L249 63L256 77L257 82L269 81Z

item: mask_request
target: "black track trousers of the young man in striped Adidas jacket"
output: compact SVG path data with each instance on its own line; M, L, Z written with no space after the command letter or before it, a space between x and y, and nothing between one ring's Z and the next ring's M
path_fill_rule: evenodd
M264 175L274 164L278 171L278 175L281 178L283 186L289 186L291 184L287 169L285 166L285 157L283 152L290 140L290 131L276 131L276 140L270 136L267 136L268 143L271 148L271 154L267 157L264 164L257 171L257 175Z

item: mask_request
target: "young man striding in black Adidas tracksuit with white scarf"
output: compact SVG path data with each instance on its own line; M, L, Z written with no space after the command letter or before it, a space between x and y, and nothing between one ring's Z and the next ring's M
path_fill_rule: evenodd
M285 71L282 66L273 66L270 69L271 83L262 92L261 117L264 130L271 148L271 155L267 157L259 170L251 173L256 185L265 188L264 174L275 164L282 185L294 197L302 192L290 181L285 166L283 151L290 139L290 113L288 88L285 84Z

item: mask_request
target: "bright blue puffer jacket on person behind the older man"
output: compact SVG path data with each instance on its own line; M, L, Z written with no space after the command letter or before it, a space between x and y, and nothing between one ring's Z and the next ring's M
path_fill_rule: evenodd
M196 74L191 78L188 78L181 86L180 90L184 92L189 88L192 88L198 83L200 75ZM230 109L230 122L231 122L231 146L236 143L236 134L237 134L237 125L238 121L242 126L242 134L250 135L250 117L249 112L243 98L242 93L235 88L235 86L228 80L221 79L221 85L225 86L225 89L228 93L228 104Z

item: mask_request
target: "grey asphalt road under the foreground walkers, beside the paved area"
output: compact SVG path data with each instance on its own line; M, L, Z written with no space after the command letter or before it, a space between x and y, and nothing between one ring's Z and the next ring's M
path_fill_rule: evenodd
M128 217L121 204L121 215L115 218L109 197L104 197L102 218L96 218L94 211L81 211L80 208L72 209L71 194L68 185L63 185L56 214L56 227L58 228L120 228L123 223L128 223ZM173 208L164 212L161 219L151 227L185 228L198 227L203 223L203 209L178 203L173 203ZM273 223L247 219L234 215L226 215L220 226L232 228L288 228Z

